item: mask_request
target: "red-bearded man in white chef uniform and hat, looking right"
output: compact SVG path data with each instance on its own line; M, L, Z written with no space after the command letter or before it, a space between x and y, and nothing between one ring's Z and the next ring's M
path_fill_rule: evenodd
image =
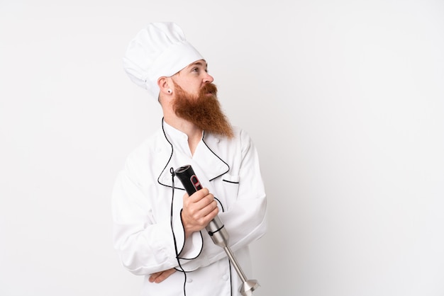
M150 23L123 63L163 111L162 127L128 156L113 189L113 240L123 266L145 275L141 295L239 295L233 264L204 228L220 217L250 275L248 244L266 230L255 146L223 115L205 59L175 23ZM172 174L187 164L204 187L191 196Z

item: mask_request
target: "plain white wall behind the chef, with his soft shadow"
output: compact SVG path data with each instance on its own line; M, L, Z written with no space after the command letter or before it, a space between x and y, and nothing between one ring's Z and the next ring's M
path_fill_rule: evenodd
M110 195L160 123L121 64L150 21L182 26L257 144L255 295L444 295L444 4L428 0L0 0L0 295L138 295Z

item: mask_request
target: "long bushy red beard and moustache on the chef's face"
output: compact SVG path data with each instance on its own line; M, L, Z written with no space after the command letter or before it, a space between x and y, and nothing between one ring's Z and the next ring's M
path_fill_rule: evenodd
M174 81L173 83L175 93L173 108L177 116L194 123L206 132L230 139L233 137L233 127L228 122L226 115L223 114L221 104L216 96L216 85L205 84L196 97L184 91Z

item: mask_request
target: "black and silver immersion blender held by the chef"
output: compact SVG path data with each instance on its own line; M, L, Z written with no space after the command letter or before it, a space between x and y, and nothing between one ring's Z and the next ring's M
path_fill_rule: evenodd
M201 183L194 174L192 166L190 165L181 166L179 167L179 169L174 171L174 173L177 176L177 178L179 178L179 180L182 182L182 185L184 186L185 190L187 190L188 195L192 195L197 190L202 189ZM228 232L225 229L221 219L218 216L214 217L213 220L211 220L209 224L206 225L205 229L210 235L214 244L216 244L217 246L221 246L223 248L228 258L230 259L231 263L233 263L235 270L238 272L239 278L240 280L242 280L242 285L240 285L239 287L240 295L251 296L252 291L259 288L259 283L257 283L257 280L247 280L247 278L245 277L245 273L243 273L242 269L239 266L238 261L236 261L233 252L228 246L228 239L229 239Z

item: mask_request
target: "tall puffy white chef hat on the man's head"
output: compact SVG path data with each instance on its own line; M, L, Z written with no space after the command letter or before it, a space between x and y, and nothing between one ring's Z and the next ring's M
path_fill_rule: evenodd
M172 76L199 59L204 58L185 40L179 25L150 23L128 45L123 69L135 84L157 99L157 79Z

